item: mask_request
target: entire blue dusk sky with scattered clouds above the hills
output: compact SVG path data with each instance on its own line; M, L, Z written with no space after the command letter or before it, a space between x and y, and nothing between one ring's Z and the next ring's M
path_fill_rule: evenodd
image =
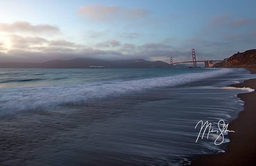
M256 47L255 0L0 0L0 62L219 60Z

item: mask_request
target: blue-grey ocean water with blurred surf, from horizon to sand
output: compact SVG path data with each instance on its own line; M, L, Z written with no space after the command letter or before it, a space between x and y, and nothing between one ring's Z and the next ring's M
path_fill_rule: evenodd
M183 165L243 109L245 69L0 69L0 165ZM232 130L232 129L230 129Z

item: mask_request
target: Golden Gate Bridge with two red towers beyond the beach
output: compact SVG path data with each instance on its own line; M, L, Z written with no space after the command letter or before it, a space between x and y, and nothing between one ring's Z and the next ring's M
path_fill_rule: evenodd
M190 54L191 55L191 54ZM189 57L190 57L189 55ZM193 67L194 68L197 68L197 62L204 62L204 66L205 67L212 67L214 64L218 63L218 62L221 62L223 60L206 60L203 56L201 56L201 59L203 60L196 60L196 56L195 56L195 49L193 48L192 49L192 61L180 61L180 62L175 62L173 63L173 59L172 57L170 57L170 67L173 68L173 65L175 64L180 64L180 63L193 63ZM188 59L188 58L187 58Z

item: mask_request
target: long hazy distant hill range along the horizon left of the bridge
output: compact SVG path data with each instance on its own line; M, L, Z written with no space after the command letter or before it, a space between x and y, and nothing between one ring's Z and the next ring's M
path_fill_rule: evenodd
M133 60L97 60L76 58L72 60L50 60L44 63L0 63L0 68L89 68L89 66L105 66L105 68L169 68L163 61Z

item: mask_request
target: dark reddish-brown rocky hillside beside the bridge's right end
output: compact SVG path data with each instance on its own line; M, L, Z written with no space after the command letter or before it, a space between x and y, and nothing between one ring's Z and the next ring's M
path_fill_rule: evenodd
M227 60L216 63L215 67L247 67L256 65L256 49L233 54Z

